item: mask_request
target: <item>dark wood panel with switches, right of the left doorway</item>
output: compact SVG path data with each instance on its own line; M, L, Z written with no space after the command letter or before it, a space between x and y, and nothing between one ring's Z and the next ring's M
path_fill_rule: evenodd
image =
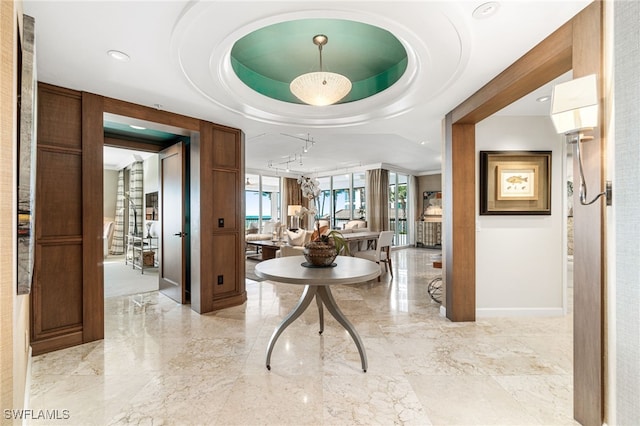
M191 156L191 307L197 312L247 299L244 280L244 135L202 122ZM198 206L198 215L193 214ZM193 271L198 271L193 274Z

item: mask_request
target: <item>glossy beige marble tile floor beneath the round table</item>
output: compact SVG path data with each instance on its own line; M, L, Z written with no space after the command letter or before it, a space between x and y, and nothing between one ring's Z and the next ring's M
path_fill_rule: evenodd
M33 358L30 406L64 425L571 425L572 318L452 323L426 292L426 249L395 277L337 286L369 369L315 304L269 337L301 288L247 281L242 306L199 315L153 292L110 298L105 339Z

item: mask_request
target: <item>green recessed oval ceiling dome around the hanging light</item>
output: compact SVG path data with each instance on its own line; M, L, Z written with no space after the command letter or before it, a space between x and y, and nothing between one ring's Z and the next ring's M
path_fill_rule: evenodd
M340 103L357 101L391 87L407 69L407 52L390 32L343 19L301 19L261 28L231 49L234 72L258 93L284 102L302 103L289 83L319 70L313 36L325 34L323 69L348 77L351 92Z

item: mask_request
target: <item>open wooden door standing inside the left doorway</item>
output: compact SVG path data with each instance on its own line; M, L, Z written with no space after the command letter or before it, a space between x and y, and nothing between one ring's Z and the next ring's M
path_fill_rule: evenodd
M160 153L159 288L178 303L187 303L185 179L183 143Z

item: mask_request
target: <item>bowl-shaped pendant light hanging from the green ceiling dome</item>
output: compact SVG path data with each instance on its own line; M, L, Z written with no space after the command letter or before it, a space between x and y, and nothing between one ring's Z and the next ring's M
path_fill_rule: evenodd
M313 44L320 52L320 71L302 74L289 85L291 93L309 105L332 105L351 91L351 81L347 77L322 70L322 46L328 41L329 38L323 34L313 37Z

